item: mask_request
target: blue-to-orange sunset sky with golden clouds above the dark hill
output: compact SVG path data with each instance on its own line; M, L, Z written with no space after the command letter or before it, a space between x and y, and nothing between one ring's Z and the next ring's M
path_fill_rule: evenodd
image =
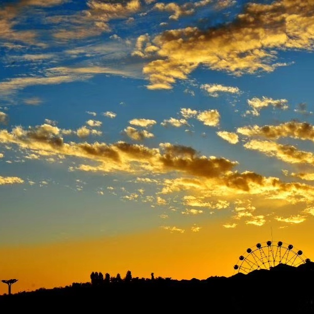
M0 30L13 293L314 259L313 0L3 0Z

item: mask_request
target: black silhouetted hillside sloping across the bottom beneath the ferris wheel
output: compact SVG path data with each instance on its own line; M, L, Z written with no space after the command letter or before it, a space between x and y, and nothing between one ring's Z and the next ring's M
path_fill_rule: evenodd
M279 264L205 280L132 279L73 283L0 296L3 312L27 313L314 313L314 263Z

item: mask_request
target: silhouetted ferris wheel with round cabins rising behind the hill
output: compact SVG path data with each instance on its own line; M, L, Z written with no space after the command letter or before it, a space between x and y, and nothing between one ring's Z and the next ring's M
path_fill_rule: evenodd
M271 269L278 264L297 267L307 262L310 262L310 259L307 259L301 250L293 248L292 244L267 241L248 248L233 268L234 272L249 273L257 269Z

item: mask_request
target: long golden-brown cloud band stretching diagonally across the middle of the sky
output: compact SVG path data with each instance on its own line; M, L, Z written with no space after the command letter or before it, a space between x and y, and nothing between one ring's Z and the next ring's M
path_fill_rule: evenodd
M11 132L0 130L0 143L6 147L16 145L19 151L24 151L30 158L39 156L56 160L59 156L67 156L84 160L85 164L72 166L69 169L72 171L126 172L143 175L138 176L135 182L160 185L158 196L162 199L165 199L163 197L165 194L175 193L180 197L181 191L188 192L189 198L183 198L182 202L194 208L228 208L230 200L234 197L256 198L268 202L278 200L288 204L308 204L314 201L314 187L310 185L287 183L276 177L266 177L250 171L238 172L234 170L237 162L200 155L191 147L171 143L162 143L158 148L125 142L65 143L62 134L62 129L49 124L27 129L18 126ZM163 175L163 179L146 178L147 173L154 176ZM135 194L140 195L140 192L136 190ZM132 197L132 193L128 197ZM138 198L157 203L161 200L147 199L141 195ZM263 219L258 217L259 214L253 215L252 210L248 210L248 206L239 203L237 208L241 207L246 209L235 211L238 218L249 217L248 223L253 224L263 222ZM189 213L192 213L190 209Z

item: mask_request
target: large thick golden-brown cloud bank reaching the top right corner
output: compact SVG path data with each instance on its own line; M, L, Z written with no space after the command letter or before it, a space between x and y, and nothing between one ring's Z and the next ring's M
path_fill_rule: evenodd
M303 0L249 3L234 22L220 28L167 30L152 40L158 60L143 68L148 88L171 89L201 65L235 75L284 66L276 63L276 49L312 49L314 16L307 12L313 9L312 1Z

